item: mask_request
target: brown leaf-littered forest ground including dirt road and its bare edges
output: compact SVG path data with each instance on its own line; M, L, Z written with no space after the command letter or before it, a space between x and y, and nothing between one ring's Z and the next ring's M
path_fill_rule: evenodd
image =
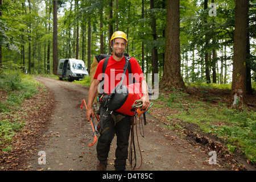
M47 88L22 105L26 126L15 135L12 151L0 152L0 171L95 171L97 166L96 144L92 143L92 129L86 121L86 109L81 109L87 99L89 88L72 82L38 76ZM196 97L204 98L199 88L188 90ZM4 93L3 93L4 94ZM229 102L229 90L208 89L208 94ZM214 102L212 103L214 104ZM256 105L255 95L250 97L251 106ZM217 155L217 164L209 164L210 151L225 150L222 141L212 135L197 133L196 125L182 123L187 137L180 137L174 130L166 129L164 113L175 110L151 110L147 125L143 126L144 138L139 133L137 167L135 171L255 171L240 155ZM153 117L152 115L156 115ZM109 152L108 168L114 171L115 140ZM42 151L46 164L40 164ZM142 160L141 160L142 156ZM134 162L133 162L134 164ZM127 161L127 170L131 170Z

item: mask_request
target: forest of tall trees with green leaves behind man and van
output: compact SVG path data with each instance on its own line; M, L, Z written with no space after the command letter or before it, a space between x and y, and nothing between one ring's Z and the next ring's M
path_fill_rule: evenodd
M2 76L56 75L64 58L83 60L89 72L121 30L126 53L162 90L229 89L229 108L239 110L255 95L254 0L0 0L0 30Z

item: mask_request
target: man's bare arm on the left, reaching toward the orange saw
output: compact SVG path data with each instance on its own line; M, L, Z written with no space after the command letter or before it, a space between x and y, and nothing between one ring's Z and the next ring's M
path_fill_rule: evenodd
M92 104L93 104L93 100L94 100L94 98L96 96L97 86L98 86L99 83L100 83L100 80L93 79L93 82L90 85L90 89L89 89L89 93L88 93L87 114L86 114L87 121L90 120L90 116L91 115L94 118Z

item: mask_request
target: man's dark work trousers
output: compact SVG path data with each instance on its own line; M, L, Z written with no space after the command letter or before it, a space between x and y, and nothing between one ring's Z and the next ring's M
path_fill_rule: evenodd
M100 115L103 115L105 111L102 107L100 109ZM102 162L108 159L110 144L114 135L116 135L117 148L115 150L114 167L116 170L125 170L126 159L128 157L131 117L125 116L118 122L115 122L115 118L118 118L118 115L117 117L112 117L112 114L109 114L105 119L101 117L101 132L97 143L97 157Z

